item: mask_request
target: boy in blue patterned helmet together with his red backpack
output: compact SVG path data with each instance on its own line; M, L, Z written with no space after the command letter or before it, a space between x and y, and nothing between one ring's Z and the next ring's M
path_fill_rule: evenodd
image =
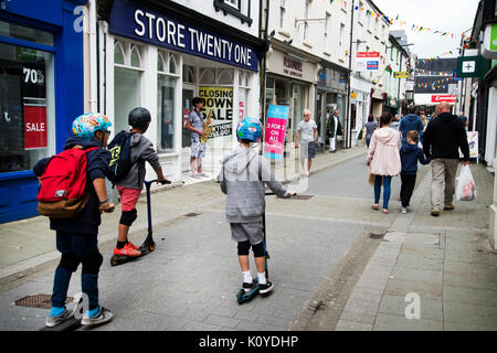
M105 188L110 156L104 147L107 146L110 127L108 118L98 113L77 117L72 126L74 138L67 139L64 151L40 160L33 168L41 182L39 210L50 216L50 228L55 231L56 248L62 253L55 269L52 309L45 321L46 327L55 327L74 314L65 308L65 300L71 276L80 264L83 265L82 291L89 300L88 311L83 314L81 323L101 324L113 318L113 313L98 303L98 272L103 256L97 246L101 214L114 211ZM75 162L76 152L80 152L81 159ZM70 170L70 165L76 164L81 168ZM68 185L63 182L61 174L68 175ZM83 188L84 195L76 202L64 199L78 184ZM59 201L51 201L50 197ZM74 204L77 205L76 211Z

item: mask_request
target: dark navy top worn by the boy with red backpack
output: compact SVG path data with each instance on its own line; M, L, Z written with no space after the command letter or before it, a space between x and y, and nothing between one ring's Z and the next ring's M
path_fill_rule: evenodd
M73 148L76 145L83 146L84 150L92 147L101 147L99 149L86 153L86 188L89 192L89 200L85 208L74 218L50 218L50 228L53 231L62 231L67 233L95 235L98 234L98 226L101 225L102 218L98 211L98 197L96 195L95 188L93 188L92 181L97 178L106 176L108 162L110 161L110 152L103 149L102 143L98 141L84 141L75 138L68 138L65 141L64 150ZM44 158L33 167L33 172L36 176L41 176L49 161L50 158Z

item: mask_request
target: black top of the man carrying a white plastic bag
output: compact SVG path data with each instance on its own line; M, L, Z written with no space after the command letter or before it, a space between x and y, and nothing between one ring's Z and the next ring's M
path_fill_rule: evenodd
M423 151L426 158L459 159L459 147L463 160L469 160L467 133L455 115L443 113L430 120L423 138Z

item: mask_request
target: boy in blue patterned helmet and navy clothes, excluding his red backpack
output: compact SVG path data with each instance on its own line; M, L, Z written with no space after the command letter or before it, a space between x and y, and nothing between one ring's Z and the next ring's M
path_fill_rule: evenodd
M68 218L50 217L50 228L55 231L56 248L62 256L53 280L52 309L45 321L49 328L73 319L74 312L65 308L65 301L71 276L80 264L83 265L82 291L88 297L88 310L84 312L81 324L101 324L113 318L113 313L98 302L98 272L103 256L97 247L101 213L114 211L114 204L109 202L105 188L110 153L104 148L107 146L110 127L112 124L105 115L82 115L73 121L74 138L68 138L64 145L64 150L91 150L86 153L86 179L91 182L86 184L87 203L76 215ZM49 158L40 160L33 168L34 174L39 178L44 175L50 163ZM46 179L41 180L43 188ZM64 190L64 194L70 192L71 190Z

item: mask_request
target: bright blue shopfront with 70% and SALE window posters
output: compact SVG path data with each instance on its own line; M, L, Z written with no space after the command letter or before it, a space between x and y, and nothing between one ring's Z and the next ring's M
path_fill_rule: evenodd
M63 149L83 114L83 30L74 9L85 3L2 2L0 223L38 215L32 168Z

